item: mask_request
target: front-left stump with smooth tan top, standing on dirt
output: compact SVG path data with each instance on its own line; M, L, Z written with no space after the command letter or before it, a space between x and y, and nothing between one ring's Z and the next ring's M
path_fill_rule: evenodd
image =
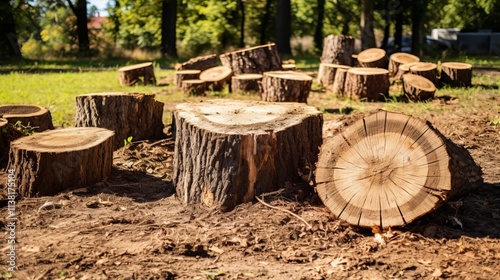
M35 133L13 141L7 169L16 171L24 197L56 194L101 182L113 166L110 130L78 127Z

